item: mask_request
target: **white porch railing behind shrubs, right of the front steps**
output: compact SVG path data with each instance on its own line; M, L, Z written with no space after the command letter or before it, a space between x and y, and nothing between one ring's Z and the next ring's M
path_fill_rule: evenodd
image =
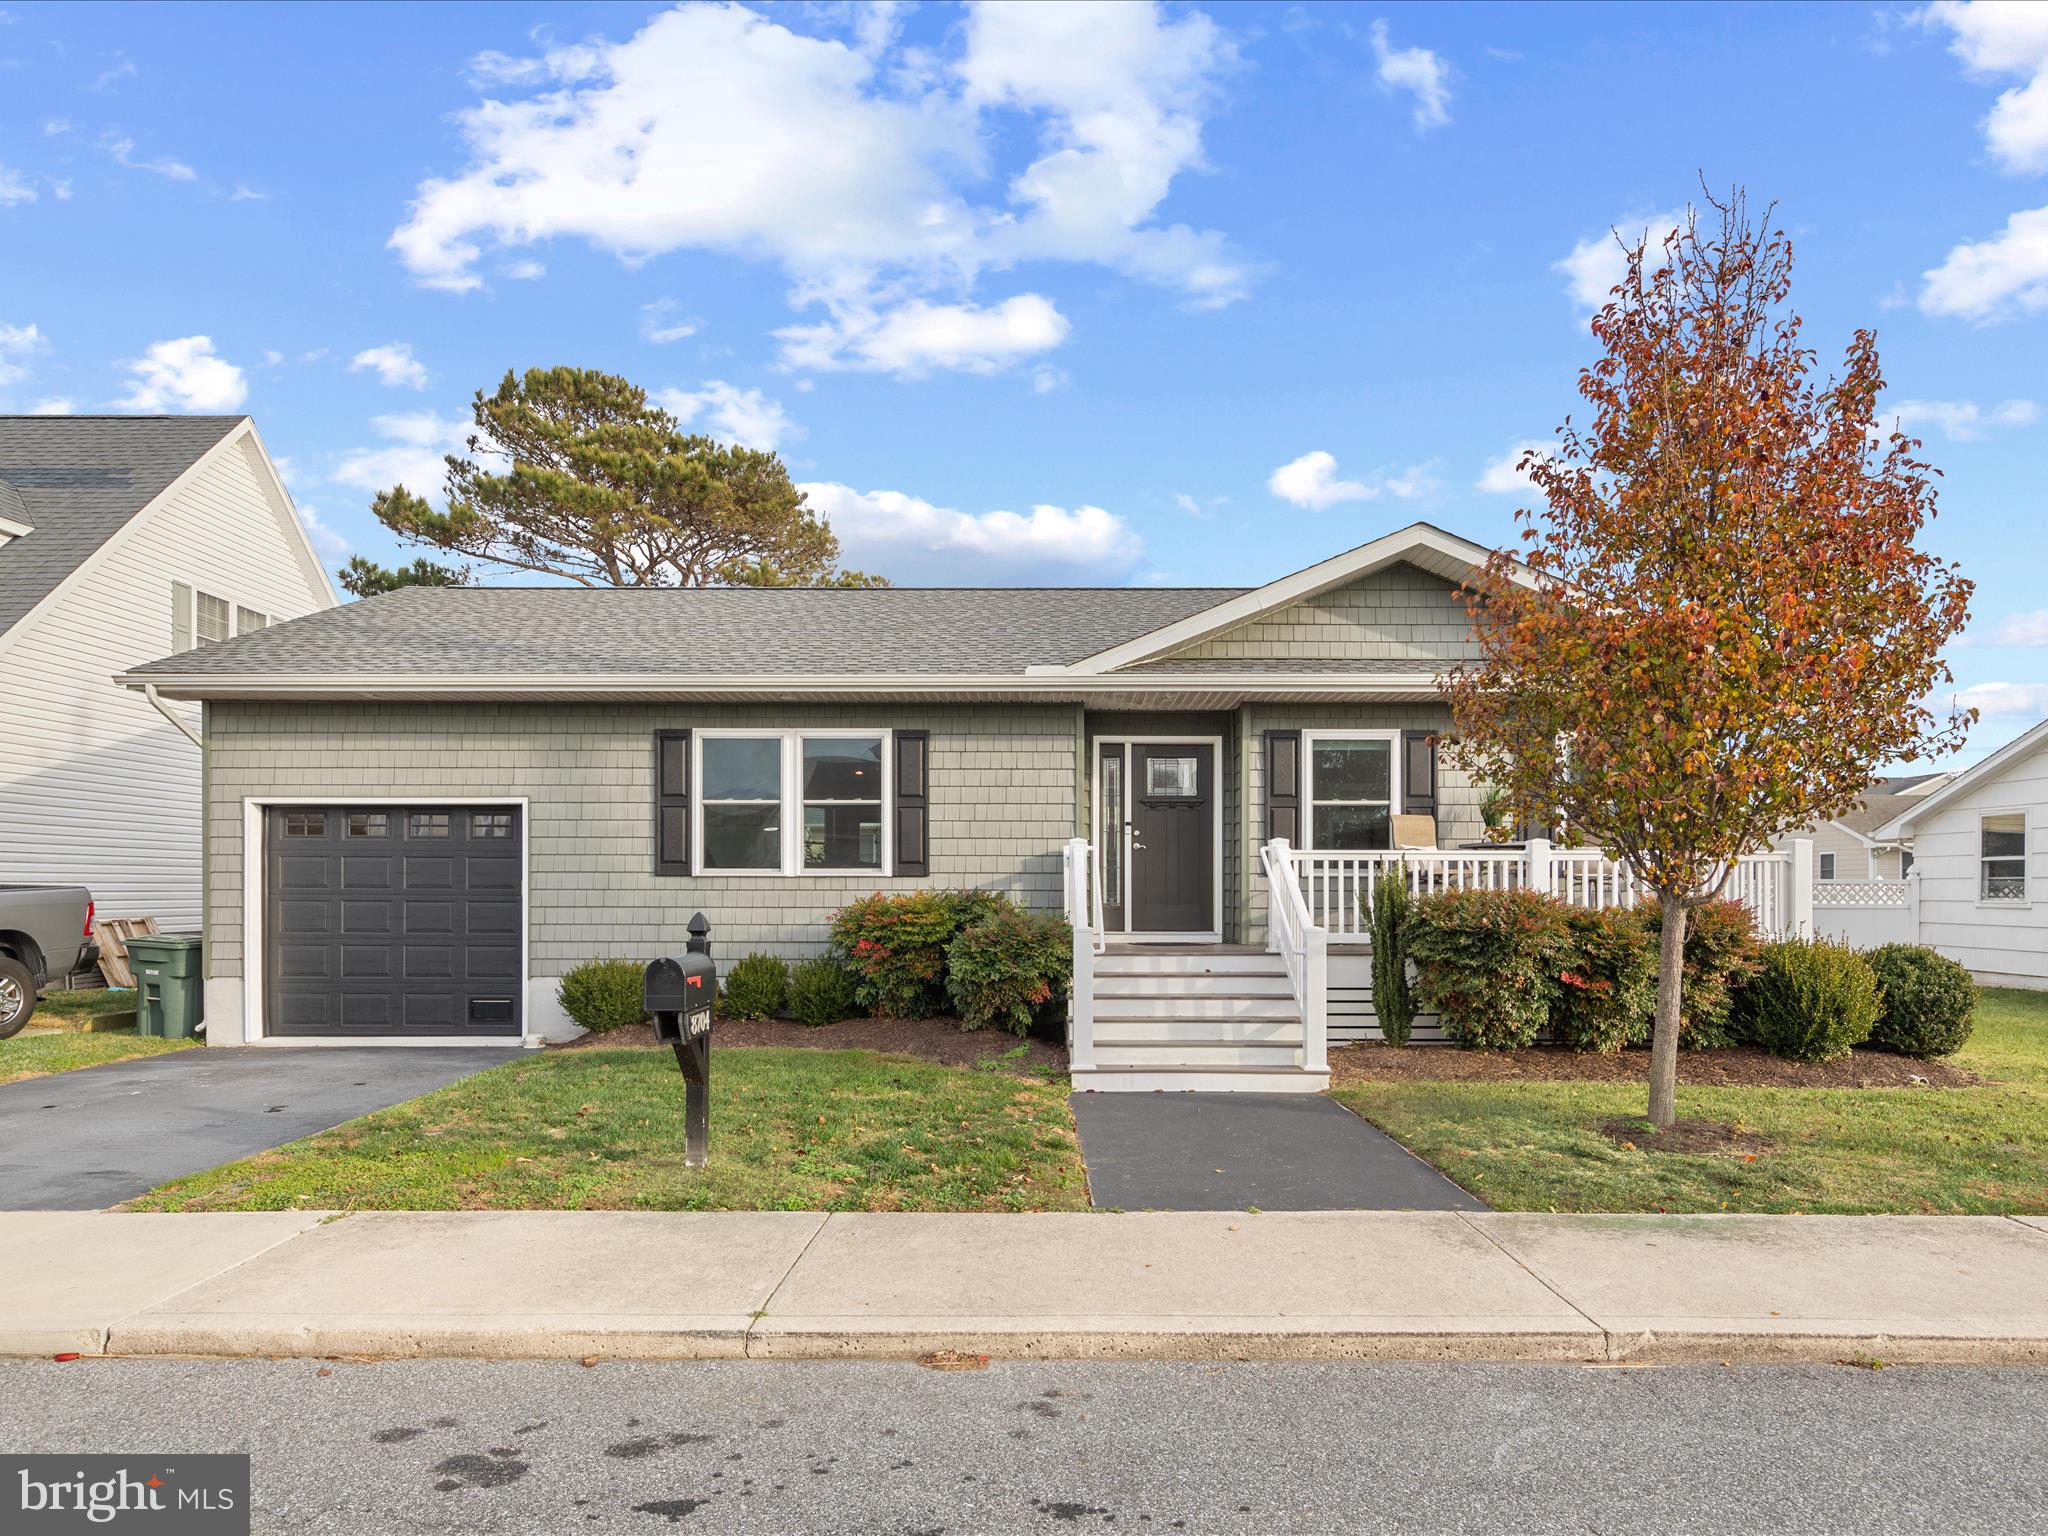
M1640 901L1634 870L1597 848L1552 848L1532 838L1524 848L1411 848L1370 854L1319 854L1284 850L1290 885L1300 895L1307 922L1333 938L1366 938L1372 891L1380 881L1407 879L1415 895L1440 891L1542 891L1573 907L1634 907ZM1268 866L1272 907L1280 911L1280 883ZM1812 934L1812 844L1747 854L1729 877L1726 895L1755 915L1772 936ZM1274 920L1278 926L1278 918Z

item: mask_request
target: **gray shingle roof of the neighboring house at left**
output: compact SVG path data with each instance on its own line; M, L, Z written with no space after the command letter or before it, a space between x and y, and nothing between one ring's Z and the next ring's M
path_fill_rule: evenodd
M242 420L0 416L0 479L35 524L0 545L0 633Z

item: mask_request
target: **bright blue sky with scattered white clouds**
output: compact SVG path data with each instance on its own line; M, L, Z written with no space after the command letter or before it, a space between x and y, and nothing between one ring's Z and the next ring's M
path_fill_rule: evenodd
M905 582L1499 541L1704 172L1946 473L1968 756L2048 713L2048 4L0 4L0 408L248 410L334 559L551 362Z

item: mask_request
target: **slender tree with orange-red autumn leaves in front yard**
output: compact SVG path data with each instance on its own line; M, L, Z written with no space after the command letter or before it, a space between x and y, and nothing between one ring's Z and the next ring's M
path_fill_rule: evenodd
M1466 590L1479 659L1450 676L1454 752L1516 811L1626 860L1663 915L1651 1112L1675 1118L1688 913L1741 854L1851 809L1872 774L1960 745L1923 702L1970 582L1915 545L1935 514L1919 442L1878 426L1876 338L1815 373L1792 246L1741 193L1706 199L1593 319L1591 424L1522 471Z

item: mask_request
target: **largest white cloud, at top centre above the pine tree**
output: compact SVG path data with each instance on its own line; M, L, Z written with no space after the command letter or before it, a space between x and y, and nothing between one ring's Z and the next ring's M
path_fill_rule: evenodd
M680 6L623 43L479 59L500 94L459 117L469 164L420 184L391 248L455 291L479 285L485 248L561 236L629 262L770 260L799 309L825 309L829 354L850 350L834 334L1022 260L1108 266L1192 307L1245 293L1221 233L1157 217L1202 168L1235 59L1208 16L989 4L934 55L903 51L883 10L854 16L854 43L780 25L797 14ZM991 162L1018 143L1030 164L1006 178Z

